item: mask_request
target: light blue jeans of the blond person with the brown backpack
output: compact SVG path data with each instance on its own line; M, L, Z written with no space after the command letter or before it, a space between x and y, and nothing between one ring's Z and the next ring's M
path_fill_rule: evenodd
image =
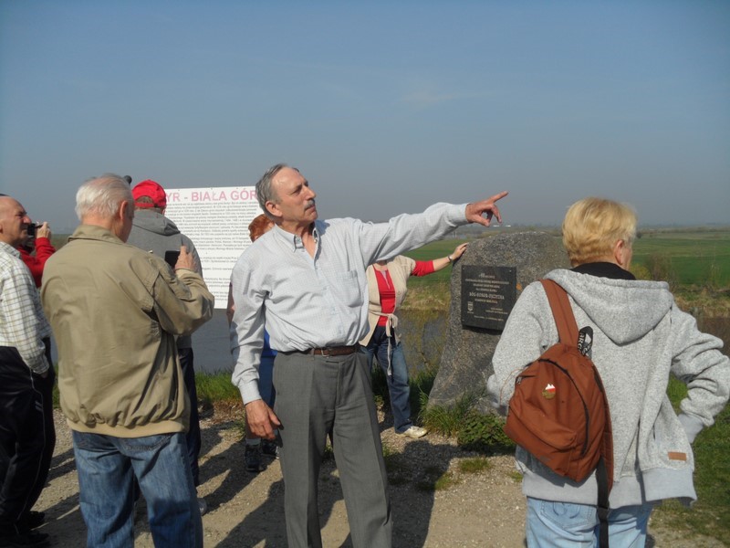
M642 548L652 504L623 506L609 512L610 548ZM527 546L594 548L599 545L596 507L527 497Z

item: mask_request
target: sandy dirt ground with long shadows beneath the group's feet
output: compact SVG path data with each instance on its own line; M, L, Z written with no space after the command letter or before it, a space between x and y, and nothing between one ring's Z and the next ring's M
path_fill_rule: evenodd
M245 471L244 445L235 419L240 406L220 407L203 419L199 496L208 502L203 516L204 545L210 547L286 547L284 484L279 463L266 459L258 474ZM474 457L453 439L430 434L418 440L396 437L387 423L382 439L388 456L393 546L398 548L522 547L525 499L508 456L490 458L491 466L461 472L460 460ZM434 490L436 479L447 485ZM327 547L351 546L342 491L334 460L325 461L320 477L320 522ZM86 527L78 509L78 479L71 437L57 415L57 448L49 484L36 504L47 513L39 531L51 545L86 545ZM136 546L153 546L143 509L136 516ZM649 546L696 548L722 546L713 539L673 532L650 524Z

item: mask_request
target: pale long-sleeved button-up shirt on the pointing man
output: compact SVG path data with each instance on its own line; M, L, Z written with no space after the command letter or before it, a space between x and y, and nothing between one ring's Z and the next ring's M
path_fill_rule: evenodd
M357 344L368 332L365 269L467 224L466 204L436 204L387 223L317 220L314 258L300 237L274 227L241 255L231 275L233 383L244 403L260 399L264 326L278 352Z

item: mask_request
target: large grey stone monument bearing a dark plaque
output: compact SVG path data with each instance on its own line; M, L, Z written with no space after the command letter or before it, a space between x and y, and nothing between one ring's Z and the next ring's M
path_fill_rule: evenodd
M494 412L486 378L506 317L527 285L560 268L570 268L568 254L560 237L545 232L502 233L469 244L451 275L446 340L429 406L453 406L471 394L478 411Z

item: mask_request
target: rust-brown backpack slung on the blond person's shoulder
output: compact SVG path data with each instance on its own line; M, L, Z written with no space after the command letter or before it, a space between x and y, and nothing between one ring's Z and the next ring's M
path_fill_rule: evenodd
M600 545L608 546L613 437L606 392L586 355L592 330L579 332L562 287L550 279L541 282L559 341L517 375L505 433L560 476L582 481L597 470Z

